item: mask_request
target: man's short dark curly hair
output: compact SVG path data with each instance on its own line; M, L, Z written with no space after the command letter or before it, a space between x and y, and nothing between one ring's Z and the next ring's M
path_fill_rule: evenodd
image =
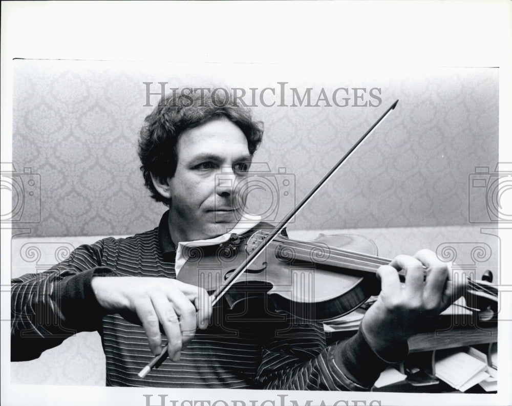
M183 88L162 98L153 112L146 116L140 131L138 154L146 187L153 199L169 205L153 185L151 174L159 179L172 178L178 162L178 138L185 130L217 117L225 117L245 134L252 155L263 137L263 123L254 121L251 111L233 99L228 89L196 92ZM204 89L204 88L203 88Z

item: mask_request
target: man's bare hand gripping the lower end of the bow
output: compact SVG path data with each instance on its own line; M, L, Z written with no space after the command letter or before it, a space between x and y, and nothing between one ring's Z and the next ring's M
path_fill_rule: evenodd
M98 303L109 313L119 313L144 328L150 349L162 351L160 325L167 336L170 359L205 329L211 317L211 300L203 288L162 277L94 276L92 288Z

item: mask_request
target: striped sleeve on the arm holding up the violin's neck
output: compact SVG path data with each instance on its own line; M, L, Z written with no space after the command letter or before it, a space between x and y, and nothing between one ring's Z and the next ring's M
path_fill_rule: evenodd
M386 358L358 331L329 347L321 323L294 325L270 338L257 379L265 389L368 391L380 372L406 358L407 344Z

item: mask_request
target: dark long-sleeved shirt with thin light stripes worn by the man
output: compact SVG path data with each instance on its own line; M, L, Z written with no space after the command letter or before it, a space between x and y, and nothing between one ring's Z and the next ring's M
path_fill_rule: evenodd
M263 319L263 304L246 302L234 315L217 307L209 327L197 330L179 361L167 359L139 378L153 358L144 330L119 314L105 314L91 280L93 275L176 278L167 216L151 231L82 245L49 271L12 280L11 359L37 358L78 331L97 330L107 386L367 390L391 365L361 332L326 347L321 323L278 313ZM403 359L407 348L402 350L393 358Z

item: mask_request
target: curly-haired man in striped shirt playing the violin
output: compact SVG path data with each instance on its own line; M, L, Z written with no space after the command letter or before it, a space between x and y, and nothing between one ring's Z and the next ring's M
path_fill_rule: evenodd
M253 314L254 305L219 322L208 292L176 279L180 247L240 229L244 202L236 185L263 130L232 96L186 96L162 100L139 139L145 184L169 208L159 226L82 245L48 272L13 280L12 360L98 330L108 386L368 390L464 283L456 286L430 250L398 255L379 268L381 292L359 331L330 346L322 323L268 309ZM216 184L221 170L229 181ZM407 273L403 284L398 270ZM165 342L170 360L141 378Z

